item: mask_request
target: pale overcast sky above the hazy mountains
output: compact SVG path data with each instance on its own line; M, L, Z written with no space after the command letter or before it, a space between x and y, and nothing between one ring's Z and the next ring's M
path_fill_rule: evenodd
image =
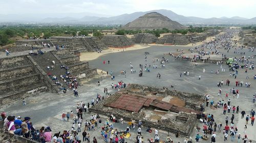
M157 9L203 18L256 17L255 0L0 0L0 14L87 12L116 16Z

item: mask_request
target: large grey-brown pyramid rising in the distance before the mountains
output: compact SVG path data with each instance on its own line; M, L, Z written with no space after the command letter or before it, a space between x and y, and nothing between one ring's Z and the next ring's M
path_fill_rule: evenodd
M167 28L168 30L180 30L185 28L177 21L170 20L157 12L147 13L123 26L125 30L153 30Z

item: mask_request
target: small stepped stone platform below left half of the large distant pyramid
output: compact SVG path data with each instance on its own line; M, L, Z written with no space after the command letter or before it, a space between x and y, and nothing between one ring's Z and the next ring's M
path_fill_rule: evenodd
M152 44L156 43L157 37L153 34L136 34L134 35L131 40L136 44Z

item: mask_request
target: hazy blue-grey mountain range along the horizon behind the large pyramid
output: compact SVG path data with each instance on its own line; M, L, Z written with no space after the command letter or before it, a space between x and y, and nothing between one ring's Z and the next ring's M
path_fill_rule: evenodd
M45 15L1 15L0 22L36 22L36 23L58 23L58 24L126 24L136 18L143 16L146 13L158 12L168 18L177 21L181 24L256 24L256 17L247 19L243 17L212 17L212 18L200 18L194 16L183 16L174 13L170 10L152 10L146 12L135 12L131 14L122 14L112 17L101 17L97 14L88 14L90 16L84 16L87 13L69 13L69 14L52 14L51 17L45 17ZM84 15L82 15L84 14ZM61 18L62 17L62 18Z

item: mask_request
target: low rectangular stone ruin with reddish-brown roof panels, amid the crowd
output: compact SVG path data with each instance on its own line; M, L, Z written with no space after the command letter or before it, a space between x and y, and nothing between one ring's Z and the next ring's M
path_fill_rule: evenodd
M204 96L130 84L89 111L124 121L141 120L144 126L188 136L200 118Z

